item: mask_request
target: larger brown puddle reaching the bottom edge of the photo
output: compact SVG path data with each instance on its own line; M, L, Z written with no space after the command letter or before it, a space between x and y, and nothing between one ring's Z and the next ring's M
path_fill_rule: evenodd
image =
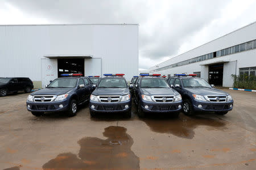
M104 137L85 137L77 143L79 154L63 153L43 165L43 169L140 169L139 158L131 151L133 139L126 128L109 126Z

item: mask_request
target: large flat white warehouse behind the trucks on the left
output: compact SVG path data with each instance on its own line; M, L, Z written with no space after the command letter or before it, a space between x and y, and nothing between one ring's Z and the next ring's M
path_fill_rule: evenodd
M0 77L36 88L63 73L138 75L138 24L0 25Z

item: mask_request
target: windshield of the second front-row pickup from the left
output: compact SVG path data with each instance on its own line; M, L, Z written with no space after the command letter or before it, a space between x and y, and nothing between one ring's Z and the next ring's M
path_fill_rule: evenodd
M126 80L121 78L101 79L98 87L101 88L126 88Z

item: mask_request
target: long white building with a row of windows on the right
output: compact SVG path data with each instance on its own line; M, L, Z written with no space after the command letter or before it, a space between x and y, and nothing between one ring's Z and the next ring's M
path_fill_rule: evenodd
M232 75L256 74L256 22L150 68L168 77L197 74L210 84L232 87Z

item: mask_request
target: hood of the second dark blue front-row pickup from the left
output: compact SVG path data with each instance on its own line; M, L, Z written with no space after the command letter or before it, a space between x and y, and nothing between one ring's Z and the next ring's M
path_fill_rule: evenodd
M93 91L93 95L127 95L129 94L128 88L96 88Z

